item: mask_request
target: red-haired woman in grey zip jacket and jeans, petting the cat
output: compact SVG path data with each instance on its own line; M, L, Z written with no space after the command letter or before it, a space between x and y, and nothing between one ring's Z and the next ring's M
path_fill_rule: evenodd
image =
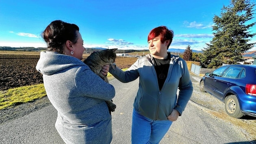
M139 77L132 114L132 144L158 144L173 121L182 115L193 91L186 61L167 52L174 33L165 26L148 34L150 54L125 72L111 65L109 72L128 83ZM104 72L108 67L104 67ZM177 96L177 89L179 94Z

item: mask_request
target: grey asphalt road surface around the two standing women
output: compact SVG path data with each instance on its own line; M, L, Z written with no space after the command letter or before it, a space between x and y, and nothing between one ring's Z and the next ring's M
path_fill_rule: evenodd
M198 77L192 76L193 81ZM112 113L111 144L130 144L132 104L139 80L121 83L111 80L116 89L117 105ZM199 87L198 84L193 85ZM199 89L199 88L197 88ZM54 124L56 110L52 105L0 125L0 144L64 144ZM160 144L250 144L241 130L210 114L207 108L189 101L182 116L175 121Z

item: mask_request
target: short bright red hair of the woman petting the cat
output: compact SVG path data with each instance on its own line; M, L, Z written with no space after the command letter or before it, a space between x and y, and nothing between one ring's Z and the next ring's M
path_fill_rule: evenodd
M167 49L171 45L172 38L174 37L174 31L169 30L166 26L160 26L157 28L154 28L153 30L150 31L148 34L148 41L152 40L153 38L160 36L161 37L161 42L165 42L165 40L170 40Z

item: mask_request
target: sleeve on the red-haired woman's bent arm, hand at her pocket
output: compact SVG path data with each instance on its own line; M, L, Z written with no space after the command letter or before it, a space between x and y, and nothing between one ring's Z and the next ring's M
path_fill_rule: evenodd
M189 70L187 68L186 61L183 59L178 61L183 74L180 78L179 83L179 95L177 100L177 105L175 109L180 113L180 116L182 115L182 112L185 110L187 103L189 102L190 97L193 93L193 85L190 79Z

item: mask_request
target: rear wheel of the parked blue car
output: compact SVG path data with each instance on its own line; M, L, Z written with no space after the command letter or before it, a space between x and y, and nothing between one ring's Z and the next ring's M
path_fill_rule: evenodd
M231 117L241 118L243 116L243 112L240 110L240 105L235 95L228 95L225 98L225 110Z

